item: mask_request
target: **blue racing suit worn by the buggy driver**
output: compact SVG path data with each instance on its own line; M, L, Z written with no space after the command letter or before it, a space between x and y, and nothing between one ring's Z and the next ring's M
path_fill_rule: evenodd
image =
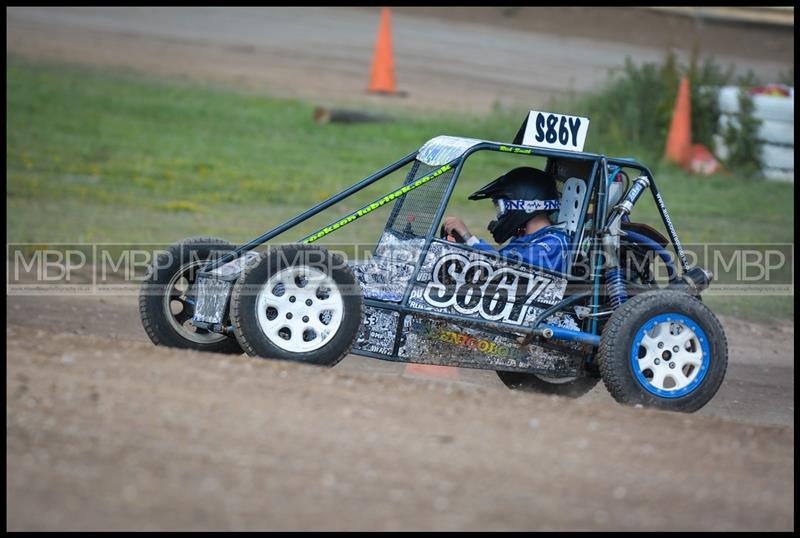
M494 252L506 258L565 273L569 255L567 234L561 228L547 226L532 234L514 237L499 251L483 239L470 241L472 248Z

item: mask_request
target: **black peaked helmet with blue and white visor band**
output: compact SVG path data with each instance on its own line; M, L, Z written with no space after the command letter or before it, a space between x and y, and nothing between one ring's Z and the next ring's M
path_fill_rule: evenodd
M536 168L514 168L485 187L470 194L470 200L491 198L497 220L488 229L499 244L516 235L532 218L550 214L560 207L555 179Z

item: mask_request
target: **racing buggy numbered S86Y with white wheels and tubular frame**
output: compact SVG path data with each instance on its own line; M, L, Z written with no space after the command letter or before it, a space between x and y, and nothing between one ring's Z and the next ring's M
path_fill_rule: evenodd
M568 396L602 379L620 403L696 411L727 366L723 328L700 296L712 275L688 264L646 166L583 151L588 124L531 111L510 144L438 136L246 244L173 245L142 283L144 328L157 345L324 366L354 353L480 368L511 388ZM555 226L569 238L565 271L445 237L445 208L476 152L546 161ZM405 167L384 196L296 243L254 250ZM630 218L646 190L666 235ZM366 259L314 244L382 209L388 220Z

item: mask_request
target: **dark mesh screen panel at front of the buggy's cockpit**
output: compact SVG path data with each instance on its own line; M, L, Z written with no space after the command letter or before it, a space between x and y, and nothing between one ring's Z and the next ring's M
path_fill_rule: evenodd
M438 168L440 167L415 161L404 184L413 183ZM387 228L418 237L426 236L431 227L436 224L433 220L436 218L442 197L454 171L455 168L451 168L395 202Z

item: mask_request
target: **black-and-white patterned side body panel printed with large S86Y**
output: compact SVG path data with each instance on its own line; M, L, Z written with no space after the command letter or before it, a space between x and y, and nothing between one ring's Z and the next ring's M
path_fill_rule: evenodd
M521 334L496 331L487 321L529 326L559 302L566 280L499 256L434 240L411 282L421 254L419 238L404 240L386 231L371 260L352 264L365 298L353 353L403 362L534 372L551 377L579 375L579 345L532 345ZM406 307L398 304L411 286ZM439 314L449 316L442 319ZM458 317L458 319L452 319ZM570 314L548 323L578 330Z

